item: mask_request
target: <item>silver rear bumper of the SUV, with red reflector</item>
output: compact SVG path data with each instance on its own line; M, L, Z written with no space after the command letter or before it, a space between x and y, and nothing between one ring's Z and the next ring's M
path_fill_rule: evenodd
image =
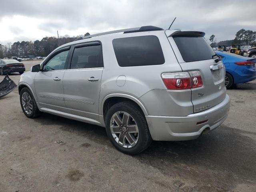
M204 130L217 128L228 116L230 96L218 105L188 116L146 116L153 140L178 141L198 138ZM198 122L205 123L197 124Z

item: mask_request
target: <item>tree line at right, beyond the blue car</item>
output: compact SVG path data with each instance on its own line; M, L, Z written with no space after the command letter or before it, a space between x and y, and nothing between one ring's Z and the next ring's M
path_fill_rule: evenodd
M232 44L250 45L256 41L256 31L240 29L236 32L236 37L233 40L214 42L215 35L210 36L210 46L216 47L218 45L231 46Z

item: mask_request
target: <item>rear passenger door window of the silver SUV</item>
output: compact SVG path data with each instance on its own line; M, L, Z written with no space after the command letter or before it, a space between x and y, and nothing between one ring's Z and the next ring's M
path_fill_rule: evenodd
M74 48L70 69L103 67L100 45Z

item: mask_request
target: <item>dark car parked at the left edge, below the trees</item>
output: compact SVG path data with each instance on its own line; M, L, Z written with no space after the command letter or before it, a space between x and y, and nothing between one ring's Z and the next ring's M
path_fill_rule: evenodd
M0 75L19 72L23 74L25 71L24 64L14 59L0 59Z

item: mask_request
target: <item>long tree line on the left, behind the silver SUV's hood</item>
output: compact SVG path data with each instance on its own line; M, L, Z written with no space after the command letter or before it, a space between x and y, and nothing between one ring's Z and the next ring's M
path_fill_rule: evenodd
M11 56L41 56L45 57L58 46L74 41L76 38L90 35L88 32L84 35L70 37L68 35L56 37L44 37L42 40L22 41L0 44L0 58Z

